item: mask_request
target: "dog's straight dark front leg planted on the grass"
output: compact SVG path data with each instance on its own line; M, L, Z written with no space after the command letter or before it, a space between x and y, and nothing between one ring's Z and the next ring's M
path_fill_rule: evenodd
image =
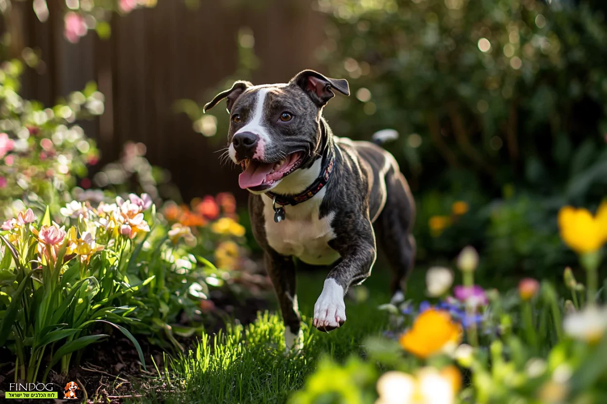
M265 264L285 322L287 351L292 348L300 351L303 348L304 333L300 326L301 317L297 308L296 271L293 258L281 256L270 249L265 253Z

